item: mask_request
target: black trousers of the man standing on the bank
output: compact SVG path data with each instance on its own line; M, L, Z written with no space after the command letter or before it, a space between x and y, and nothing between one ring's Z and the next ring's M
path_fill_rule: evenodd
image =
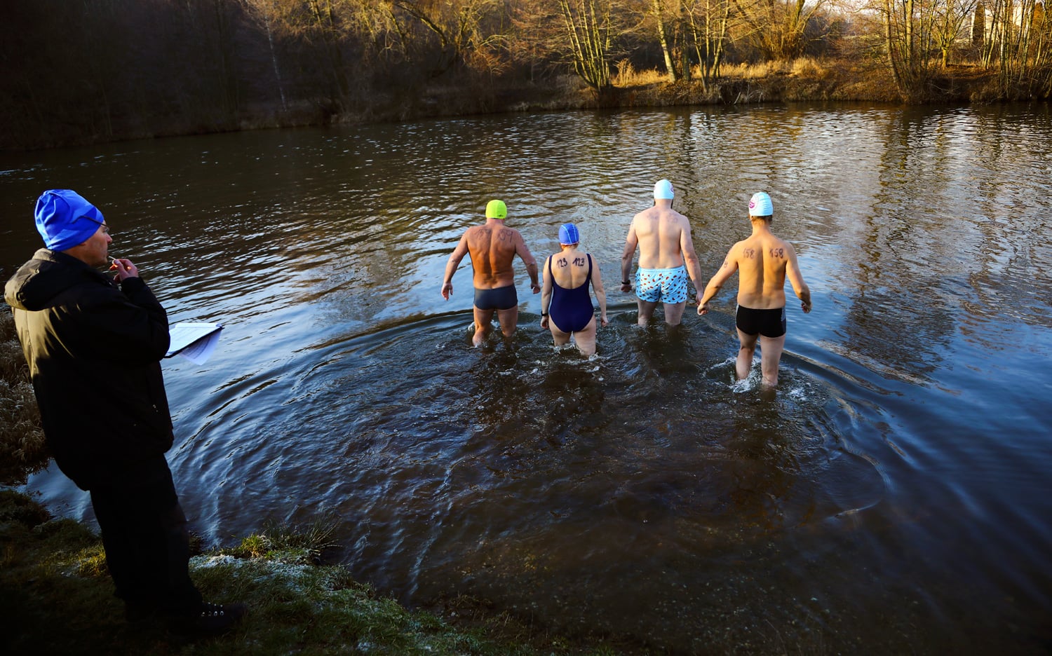
M90 490L117 596L136 612L195 614L201 593L189 576L189 532L171 470L163 456L142 467L126 483Z

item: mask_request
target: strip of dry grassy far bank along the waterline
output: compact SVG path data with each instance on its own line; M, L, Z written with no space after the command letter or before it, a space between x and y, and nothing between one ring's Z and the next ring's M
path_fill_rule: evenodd
M443 80L411 94L377 94L342 110L316 116L277 110L246 115L242 128L307 124L399 122L481 114L626 109L687 105L743 105L771 102L862 101L902 103L887 67L866 58L802 57L785 62L725 65L715 80L674 83L655 69L636 70L622 62L613 86L603 93L572 75L555 76L537 84L498 83L481 86L474 78ZM911 102L971 103L1003 99L996 75L977 64L957 64L934 73L923 98Z

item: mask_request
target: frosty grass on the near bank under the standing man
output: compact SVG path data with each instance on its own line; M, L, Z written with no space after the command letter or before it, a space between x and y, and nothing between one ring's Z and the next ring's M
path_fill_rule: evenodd
M128 623L113 596L97 535L52 519L36 501L0 490L0 633L5 654L427 654L612 655L530 632L505 616L468 624L411 611L355 581L346 568L318 565L331 546L322 522L270 527L229 549L195 556L190 574L204 597L247 604L227 635L180 643L160 621Z

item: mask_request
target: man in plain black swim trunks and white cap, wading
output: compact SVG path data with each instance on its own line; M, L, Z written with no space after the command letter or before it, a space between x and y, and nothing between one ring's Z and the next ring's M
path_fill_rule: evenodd
M811 311L811 290L800 271L792 244L771 232L774 205L771 197L758 191L749 199L752 235L731 246L720 270L705 287L699 314L709 311L709 301L734 274L737 278L737 310L734 323L741 348L735 373L740 381L749 376L752 355L760 341L764 385L778 384L778 363L786 342L786 278L801 300L801 309Z

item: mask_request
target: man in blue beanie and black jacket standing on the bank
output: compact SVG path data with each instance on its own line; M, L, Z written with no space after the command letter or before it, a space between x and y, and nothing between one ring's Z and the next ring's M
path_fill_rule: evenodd
M45 248L7 281L44 437L87 490L128 619L159 614L178 633L218 633L243 604L205 603L190 581L186 517L164 453L173 444L161 358L168 317L130 260L108 258L109 227L68 189L37 201ZM109 265L110 279L99 268Z

